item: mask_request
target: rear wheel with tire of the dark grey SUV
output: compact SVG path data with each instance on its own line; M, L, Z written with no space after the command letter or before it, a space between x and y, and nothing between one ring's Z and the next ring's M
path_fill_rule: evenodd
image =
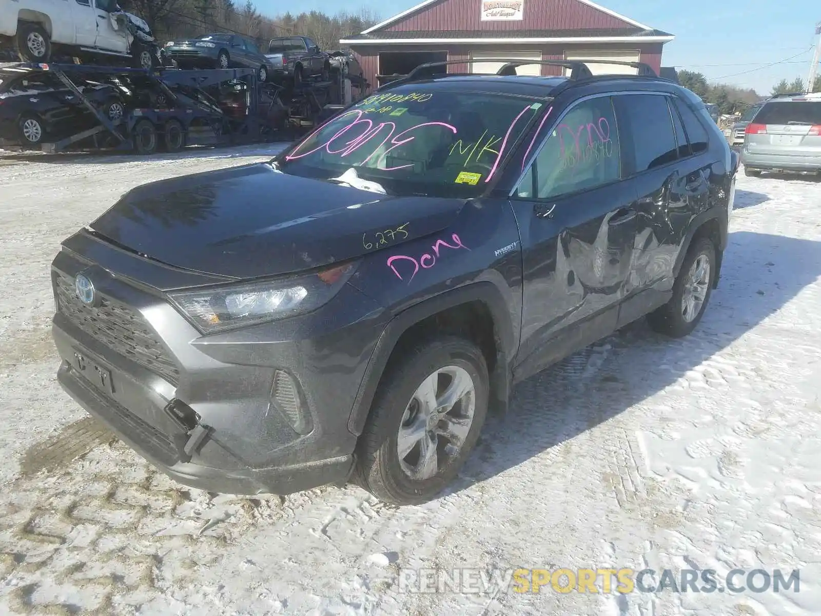
M692 332L707 308L716 274L716 246L709 237L699 237L681 263L670 301L647 315L650 327L671 338Z

